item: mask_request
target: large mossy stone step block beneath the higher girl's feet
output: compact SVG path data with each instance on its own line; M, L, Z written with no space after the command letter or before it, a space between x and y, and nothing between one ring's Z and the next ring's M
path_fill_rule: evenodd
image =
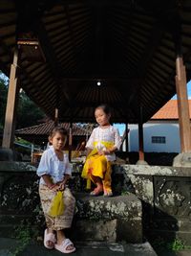
M142 243L141 201L133 194L112 198L75 195L74 240Z

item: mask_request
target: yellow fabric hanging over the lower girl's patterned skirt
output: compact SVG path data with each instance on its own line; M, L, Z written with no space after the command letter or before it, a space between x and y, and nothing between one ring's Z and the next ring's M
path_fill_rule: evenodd
M58 191L55 197L53 198L53 203L49 211L49 215L56 217L64 213L64 201L63 201L63 192Z

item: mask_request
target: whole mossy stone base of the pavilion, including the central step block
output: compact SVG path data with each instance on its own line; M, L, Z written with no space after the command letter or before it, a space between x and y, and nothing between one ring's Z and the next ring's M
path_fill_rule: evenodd
M190 244L189 168L114 165L115 197L107 199L90 198L88 193L81 193L86 185L80 178L81 168L82 165L74 164L74 175L69 184L77 198L74 227L77 227L78 237L82 238L83 234L86 240L132 242L130 234L133 234L133 241L139 243L143 228L146 238L179 238ZM9 232L12 235L12 226L20 223L30 224L43 234L45 222L35 172L36 168L31 164L0 163L0 236Z

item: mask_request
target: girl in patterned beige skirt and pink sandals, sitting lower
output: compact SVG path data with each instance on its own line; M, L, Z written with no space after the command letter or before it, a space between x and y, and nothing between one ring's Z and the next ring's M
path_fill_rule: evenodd
M65 237L64 228L70 228L74 217L75 199L66 187L72 170L67 154L62 150L67 140L67 132L64 128L53 128L49 137L52 146L43 152L37 175L40 178L39 195L45 215L47 229L44 232L44 245L48 249L53 247L63 253L74 252L74 244ZM53 198L57 191L63 192L63 215L52 217L49 214Z

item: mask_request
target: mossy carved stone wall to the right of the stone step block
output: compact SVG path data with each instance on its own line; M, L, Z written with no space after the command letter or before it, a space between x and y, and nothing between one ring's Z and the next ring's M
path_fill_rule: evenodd
M115 166L142 201L143 230L151 238L191 241L191 168Z

